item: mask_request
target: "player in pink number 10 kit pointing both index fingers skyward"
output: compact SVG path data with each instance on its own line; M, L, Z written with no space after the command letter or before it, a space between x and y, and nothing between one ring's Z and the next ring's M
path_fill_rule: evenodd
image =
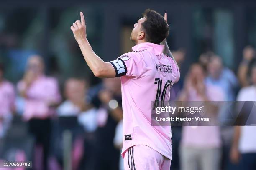
M169 170L172 159L171 126L151 126L151 101L168 101L179 80L179 68L166 37L164 17L146 10L131 33L132 52L104 62L92 50L84 15L71 26L85 61L96 77L121 77L123 150L125 170ZM164 44L164 45L161 45Z

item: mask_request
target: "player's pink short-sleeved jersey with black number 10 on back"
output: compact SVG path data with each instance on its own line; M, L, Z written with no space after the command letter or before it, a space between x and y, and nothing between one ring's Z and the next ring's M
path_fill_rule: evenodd
M169 91L179 80L179 68L162 53L164 45L147 42L132 49L110 62L116 77L122 76L122 156L133 145L147 145L172 159L171 126L151 126L151 101L169 101Z

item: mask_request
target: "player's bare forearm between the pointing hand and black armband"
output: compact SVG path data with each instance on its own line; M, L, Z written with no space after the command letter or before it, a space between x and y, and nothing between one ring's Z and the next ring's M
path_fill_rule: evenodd
M79 47L84 56L84 60L92 70L93 74L98 77L100 72L104 72L104 65L106 64L99 56L95 54L87 39L79 42Z

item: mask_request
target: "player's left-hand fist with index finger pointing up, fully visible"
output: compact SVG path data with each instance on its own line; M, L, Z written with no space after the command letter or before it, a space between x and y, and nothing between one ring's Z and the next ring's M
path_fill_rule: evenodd
M80 20L76 20L76 22L73 23L73 25L70 27L78 43L86 40L86 26L85 26L84 14L80 12L80 16L81 16L81 22Z

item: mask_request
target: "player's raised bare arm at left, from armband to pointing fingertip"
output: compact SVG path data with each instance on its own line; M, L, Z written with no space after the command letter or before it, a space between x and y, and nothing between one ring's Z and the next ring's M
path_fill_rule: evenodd
M72 30L74 37L79 44L84 56L84 60L87 62L87 65L90 67L96 77L115 77L115 69L113 66L109 62L104 62L92 50L92 47L86 37L86 26L82 12L80 12L80 16L81 22L80 20L76 20L70 29Z

